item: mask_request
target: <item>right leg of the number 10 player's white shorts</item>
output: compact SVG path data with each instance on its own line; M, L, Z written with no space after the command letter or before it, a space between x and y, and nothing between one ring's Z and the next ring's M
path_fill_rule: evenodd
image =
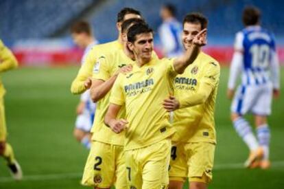
M259 87L261 91L259 91L259 96L257 102L255 102L254 106L252 107L252 113L259 116L267 116L271 113L271 106L272 106L272 85L263 85Z

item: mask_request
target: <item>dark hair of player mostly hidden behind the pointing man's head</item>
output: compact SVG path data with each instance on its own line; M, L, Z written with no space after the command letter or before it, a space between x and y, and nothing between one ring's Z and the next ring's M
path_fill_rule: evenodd
M136 36L144 33L152 33L153 30L147 23L136 23L129 27L127 32L127 39L129 42L134 43Z

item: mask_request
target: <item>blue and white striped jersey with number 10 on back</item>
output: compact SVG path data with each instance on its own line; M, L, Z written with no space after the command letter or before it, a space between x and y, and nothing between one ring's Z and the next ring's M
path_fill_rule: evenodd
M260 26L250 26L236 34L229 89L235 87L239 71L242 85L272 82L274 88L279 88L279 63L274 36L270 32Z

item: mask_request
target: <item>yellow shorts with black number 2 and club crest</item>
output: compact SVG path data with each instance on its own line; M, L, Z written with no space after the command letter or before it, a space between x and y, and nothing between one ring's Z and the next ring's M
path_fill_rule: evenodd
M123 146L92 141L82 185L98 188L127 188Z

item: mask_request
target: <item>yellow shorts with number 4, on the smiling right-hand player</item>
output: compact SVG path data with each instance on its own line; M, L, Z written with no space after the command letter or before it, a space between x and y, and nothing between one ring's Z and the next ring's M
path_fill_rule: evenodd
M215 144L209 142L178 143L171 146L169 179L197 181L209 184L212 180Z

